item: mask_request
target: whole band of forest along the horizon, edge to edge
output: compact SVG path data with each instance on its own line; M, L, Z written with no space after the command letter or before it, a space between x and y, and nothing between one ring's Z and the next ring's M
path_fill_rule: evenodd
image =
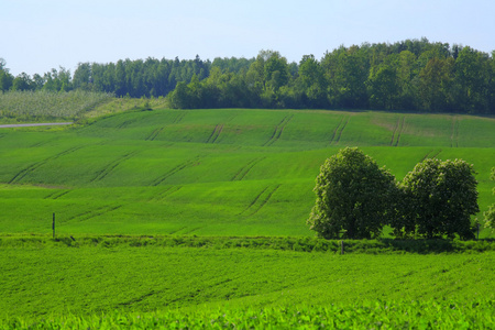
M213 62L146 58L80 63L74 76L58 70L13 77L0 62L0 88L117 97L167 97L173 108L378 109L495 113L495 51L431 43L340 46L321 59L288 63L278 52Z

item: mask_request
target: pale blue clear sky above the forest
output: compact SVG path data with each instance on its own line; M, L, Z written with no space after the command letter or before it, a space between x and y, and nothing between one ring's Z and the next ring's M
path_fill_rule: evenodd
M495 51L494 0L0 0L0 58L14 76L78 63L213 61L427 37Z

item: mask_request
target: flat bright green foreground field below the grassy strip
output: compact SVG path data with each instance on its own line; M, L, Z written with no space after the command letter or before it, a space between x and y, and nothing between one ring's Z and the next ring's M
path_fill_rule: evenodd
M406 321L418 322L421 316L433 328L464 318L470 320L468 328L473 328L490 326L494 318L493 252L339 255L252 249L28 245L3 248L0 262L0 326L12 328L36 321L61 326L63 316L81 318L84 322L77 328L85 329L91 324L84 326L88 319L92 319L92 327L103 319L128 324L128 318L142 324L153 315L165 322L164 327L177 319L189 327L202 319L208 326L213 315L249 321L249 317L237 315L248 310L251 316L276 318L287 308L294 314L300 309L306 321L318 320L321 309L329 308L320 323L342 321L341 327L346 322L353 328L387 320L404 326ZM361 317L355 319L363 306L374 309L386 305L388 314L359 312ZM319 312L310 312L314 309ZM118 316L112 316L116 311ZM69 319L68 324L74 321ZM284 318L278 321L288 327ZM263 328L263 323L256 326Z

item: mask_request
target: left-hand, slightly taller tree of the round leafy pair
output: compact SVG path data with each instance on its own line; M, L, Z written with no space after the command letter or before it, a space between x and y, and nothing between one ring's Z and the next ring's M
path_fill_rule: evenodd
M370 239L387 222L394 176L356 147L328 158L316 178L315 207L307 223L326 239Z

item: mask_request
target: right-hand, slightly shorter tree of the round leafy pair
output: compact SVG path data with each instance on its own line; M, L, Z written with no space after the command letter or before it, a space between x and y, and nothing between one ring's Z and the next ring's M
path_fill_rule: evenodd
M462 160L417 164L400 184L402 217L392 223L396 235L473 239L471 216L480 211L474 175Z

